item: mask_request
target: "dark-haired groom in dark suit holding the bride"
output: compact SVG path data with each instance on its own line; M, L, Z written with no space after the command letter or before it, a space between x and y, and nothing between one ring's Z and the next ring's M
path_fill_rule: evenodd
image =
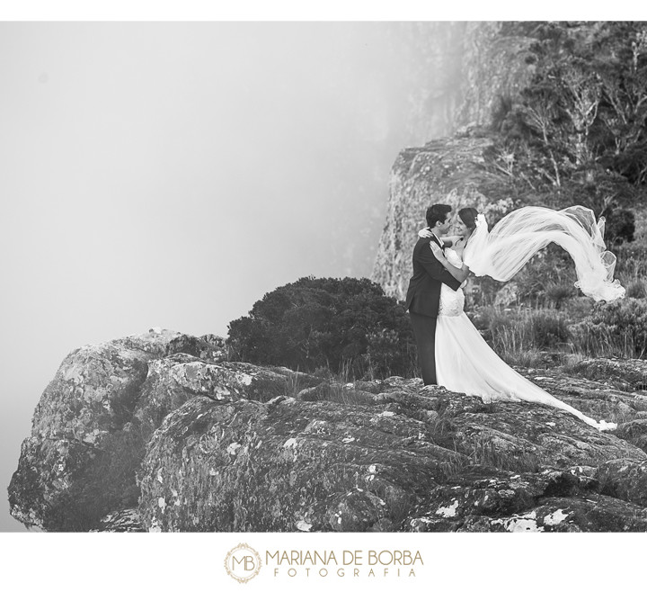
M440 304L440 285L446 283L452 290L460 282L450 274L434 256L430 248L433 241L444 249L442 237L451 226L451 206L437 203L427 208L427 225L431 238L419 238L413 247L413 276L409 281L404 308L409 310L413 336L418 347L418 364L421 366L422 381L438 384L436 381L436 320Z

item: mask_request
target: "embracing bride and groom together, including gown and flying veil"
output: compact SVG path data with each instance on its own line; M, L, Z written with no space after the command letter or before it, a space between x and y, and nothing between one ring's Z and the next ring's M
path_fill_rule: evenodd
M406 295L425 385L494 400L528 401L561 408L599 430L596 421L554 398L503 362L465 315L462 286L472 272L508 281L541 248L554 242L572 256L575 284L595 300L616 300L625 289L613 280L616 257L605 251L604 220L581 206L562 211L526 207L489 231L483 214L463 208L454 217L445 204L430 206L427 229L413 248L413 275ZM454 226L455 236L449 236Z

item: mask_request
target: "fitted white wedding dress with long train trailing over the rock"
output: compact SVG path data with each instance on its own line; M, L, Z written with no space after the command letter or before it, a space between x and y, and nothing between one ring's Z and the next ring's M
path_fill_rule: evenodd
M445 256L450 264L461 266L461 257L454 249L445 249ZM445 284L442 285L436 326L436 377L440 386L476 395L484 402L503 400L543 403L568 411L598 430L616 429L616 424L598 422L585 416L512 370L487 345L467 318L464 305L465 294L461 288L454 292Z

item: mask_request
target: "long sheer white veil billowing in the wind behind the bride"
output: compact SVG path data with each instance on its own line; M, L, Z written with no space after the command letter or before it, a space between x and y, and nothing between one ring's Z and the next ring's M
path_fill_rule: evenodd
M511 211L488 229L483 214L465 247L465 265L476 275L508 282L527 261L553 242L563 247L575 263L575 286L594 300L610 302L625 297L625 288L613 279L616 256L606 250L604 218L596 222L593 211L572 206L555 211L527 206Z

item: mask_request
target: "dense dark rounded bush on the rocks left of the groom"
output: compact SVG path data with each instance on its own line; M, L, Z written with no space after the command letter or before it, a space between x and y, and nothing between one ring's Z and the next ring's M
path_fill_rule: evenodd
M403 307L368 279L305 277L268 292L229 325L235 359L349 378L410 375L415 360Z

